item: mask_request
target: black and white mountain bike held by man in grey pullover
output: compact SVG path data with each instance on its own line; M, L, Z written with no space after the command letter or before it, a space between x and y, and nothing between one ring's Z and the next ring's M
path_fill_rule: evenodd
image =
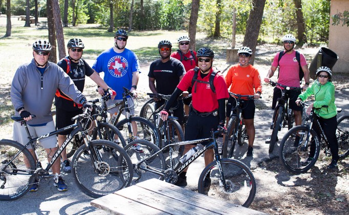
M72 160L73 176L78 187L86 195L98 198L128 186L133 178L132 162L125 150L116 143L107 140L91 140L89 131L82 126L82 121L89 119L89 113L72 118L75 124L57 131L32 138L26 121L20 116L12 116L16 122L25 126L29 142L22 145L13 140L0 140L0 200L14 200L25 195L34 183L54 178L58 182L58 174L49 173L54 162L59 162L62 150L78 133L82 133L84 143L77 149ZM35 117L32 115L32 117ZM57 135L73 128L67 140L53 154L52 160L43 168L37 153L35 142ZM27 147L33 149L33 155ZM37 181L37 182L35 182Z

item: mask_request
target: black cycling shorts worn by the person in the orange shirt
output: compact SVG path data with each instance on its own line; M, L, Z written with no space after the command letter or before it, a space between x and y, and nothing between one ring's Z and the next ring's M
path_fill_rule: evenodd
M244 119L253 119L254 118L254 112L256 109L256 105L254 104L254 100L242 100L242 110L243 118ZM227 108L226 108L226 116L230 117L231 109L233 108L233 112L236 114L236 110L234 110L236 107L236 99L233 97L229 97L227 102Z

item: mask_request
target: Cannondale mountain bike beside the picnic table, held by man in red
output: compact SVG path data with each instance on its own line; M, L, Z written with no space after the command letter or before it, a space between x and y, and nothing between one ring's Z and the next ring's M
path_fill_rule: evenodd
M150 178L159 178L168 183L175 184L179 174L189 164L199 158L206 150L213 148L215 161L208 164L202 171L198 183L199 193L248 207L252 203L256 193L254 176L243 162L231 158L221 159L216 142L219 133L225 132L222 130L212 131L210 138L172 143L166 145L161 150L156 145L147 141L136 140L129 143L124 149L130 156L134 166L132 184ZM171 157L173 147L198 143L202 143L204 146L199 148L190 158L182 161L183 163L174 163L172 159L169 159L170 167L167 166L162 152L169 150L169 156ZM135 144L143 149L142 152L137 152L134 149Z

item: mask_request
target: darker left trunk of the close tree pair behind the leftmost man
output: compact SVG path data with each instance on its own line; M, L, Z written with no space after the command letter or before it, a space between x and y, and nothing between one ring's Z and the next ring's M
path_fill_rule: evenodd
M51 54L49 57L49 61L57 63L57 45L56 45L56 29L55 29L55 23L53 18L53 11L52 11L52 1L53 0L47 0L47 27L49 29L49 42L52 46Z

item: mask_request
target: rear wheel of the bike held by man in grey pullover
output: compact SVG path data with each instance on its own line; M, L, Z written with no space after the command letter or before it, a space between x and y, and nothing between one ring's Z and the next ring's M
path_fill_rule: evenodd
M0 140L0 200L10 201L25 195L35 181L33 172L35 171L35 161L27 148L24 148L16 158L14 158L24 146L13 140ZM27 167L25 165L27 158ZM9 164L6 168L5 165ZM21 170L21 174L18 173ZM31 171L31 173L30 173Z

